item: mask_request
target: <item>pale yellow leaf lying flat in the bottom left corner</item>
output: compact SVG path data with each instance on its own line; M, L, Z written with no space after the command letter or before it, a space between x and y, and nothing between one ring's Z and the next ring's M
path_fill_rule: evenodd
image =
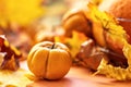
M28 72L22 69L17 71L0 70L0 87L26 87L32 80L26 77Z

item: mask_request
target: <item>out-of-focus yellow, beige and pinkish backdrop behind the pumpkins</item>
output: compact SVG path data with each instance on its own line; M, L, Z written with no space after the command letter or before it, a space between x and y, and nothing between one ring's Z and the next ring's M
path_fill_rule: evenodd
M36 42L63 33L64 13L88 0L0 0L0 35L24 53ZM99 3L102 0L91 0Z

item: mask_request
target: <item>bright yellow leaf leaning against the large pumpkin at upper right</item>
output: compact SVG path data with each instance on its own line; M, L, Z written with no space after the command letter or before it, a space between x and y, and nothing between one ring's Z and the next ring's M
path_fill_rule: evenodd
M102 12L97 9L96 5L88 3L90 14L87 16L95 24L99 23L102 28L108 33L112 39L119 40L119 42L123 42L127 40L127 34L122 26L120 26L117 20L107 12ZM95 27L95 26L94 26Z

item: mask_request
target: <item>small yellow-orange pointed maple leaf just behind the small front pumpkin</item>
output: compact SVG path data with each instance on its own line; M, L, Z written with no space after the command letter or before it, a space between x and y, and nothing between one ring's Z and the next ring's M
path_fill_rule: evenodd
M80 51L81 44L85 40L87 40L87 37L75 30L72 32L72 37L55 37L55 41L62 42L69 47L72 58L75 58Z

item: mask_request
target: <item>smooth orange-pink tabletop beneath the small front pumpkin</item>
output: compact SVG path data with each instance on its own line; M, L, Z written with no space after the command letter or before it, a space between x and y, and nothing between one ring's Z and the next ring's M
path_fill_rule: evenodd
M26 69L26 63L22 63ZM69 73L59 80L36 80L27 87L131 87L131 80L118 82L104 76L92 76L87 69L72 66Z

